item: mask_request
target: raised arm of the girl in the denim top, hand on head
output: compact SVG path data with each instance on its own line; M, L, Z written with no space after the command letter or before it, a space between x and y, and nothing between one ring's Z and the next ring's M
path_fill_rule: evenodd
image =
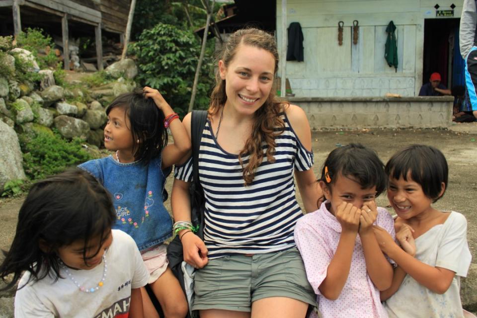
M144 92L147 98L152 98L154 100L159 110L164 113L164 117L174 113L170 105L165 101L157 89L146 86L144 87ZM163 125L163 123L159 123L158 125ZM169 123L169 129L172 138L174 138L174 143L169 144L162 149L161 159L163 169L177 163L190 151L190 115L187 114L184 117L184 123L179 119L171 121Z

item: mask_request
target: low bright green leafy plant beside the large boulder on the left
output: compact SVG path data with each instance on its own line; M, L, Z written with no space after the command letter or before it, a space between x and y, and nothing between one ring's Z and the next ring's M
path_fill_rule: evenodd
M56 131L37 131L35 138L20 139L25 173L31 179L44 178L91 159L81 145L81 140L67 141Z

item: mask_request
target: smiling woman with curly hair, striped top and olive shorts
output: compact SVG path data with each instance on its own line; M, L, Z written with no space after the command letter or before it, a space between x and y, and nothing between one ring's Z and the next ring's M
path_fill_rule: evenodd
M305 112L278 101L273 35L241 29L218 56L217 84L199 152L205 196L204 239L178 231L184 260L198 270L192 310L202 318L305 317L315 295L293 230L321 191L313 173L311 131ZM191 116L184 118L190 135ZM172 212L191 221L192 159L176 166Z

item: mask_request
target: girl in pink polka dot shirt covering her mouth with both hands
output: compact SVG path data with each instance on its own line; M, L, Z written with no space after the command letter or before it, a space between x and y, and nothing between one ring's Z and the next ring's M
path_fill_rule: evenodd
M388 317L380 291L391 286L393 266L373 232L378 225L395 237L393 218L375 203L386 180L383 162L359 144L337 148L325 160L318 181L326 201L295 227L322 318Z

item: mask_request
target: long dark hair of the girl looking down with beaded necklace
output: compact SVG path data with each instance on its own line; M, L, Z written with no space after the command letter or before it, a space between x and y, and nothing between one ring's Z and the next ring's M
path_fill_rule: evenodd
M6 283L6 276L13 273L13 279L2 290L13 287L23 271L31 274L28 282L46 275L61 277L59 247L78 240L86 247L99 237L98 253L116 220L110 198L91 174L79 168L35 183L18 213L10 250L3 251L0 277ZM86 250L83 258L86 263Z

